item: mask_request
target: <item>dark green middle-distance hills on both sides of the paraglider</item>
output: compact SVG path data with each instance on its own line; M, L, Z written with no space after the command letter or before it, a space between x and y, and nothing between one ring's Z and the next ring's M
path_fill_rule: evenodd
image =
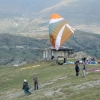
M45 36L46 38L46 36ZM34 39L11 34L0 34L0 64L33 62L42 59L43 49L51 46L49 38ZM75 52L84 51L100 58L100 35L77 30L63 46Z

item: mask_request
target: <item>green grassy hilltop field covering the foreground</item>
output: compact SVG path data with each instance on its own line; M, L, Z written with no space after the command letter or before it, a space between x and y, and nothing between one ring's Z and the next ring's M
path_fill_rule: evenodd
M99 100L100 72L89 72L85 78L75 76L74 65L54 65L52 62L31 63L25 66L0 66L1 100ZM29 66L36 66L27 68ZM82 65L80 74L82 73ZM21 70L21 68L27 68ZM87 68L100 68L100 65L87 65ZM39 80L39 90L31 90L32 95L22 92L23 80L27 79L33 88L33 74ZM20 93L16 96L16 93ZM14 95L13 97L10 97Z

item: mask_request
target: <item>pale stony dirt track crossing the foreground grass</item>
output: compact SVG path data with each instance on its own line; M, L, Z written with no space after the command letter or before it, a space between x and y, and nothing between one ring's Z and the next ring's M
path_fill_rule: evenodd
M41 98L41 97L43 98L43 96L51 97L54 94L63 95L63 98L66 98L66 94L64 94L60 90L61 90L62 87L68 85L68 83L61 84L61 85L58 85L58 86L52 87L52 88L50 88L50 87L44 88L45 86L49 86L49 85L54 84L54 82L57 82L57 80L59 80L59 79L60 80L67 79L67 77L57 78L57 79L52 80L51 82L41 84L39 86L38 91L34 91L33 88L31 88L30 91L32 92L32 96L34 97L34 99L38 100L38 98ZM69 83L69 84L71 84L71 83ZM85 83L82 83L80 85L71 86L71 87L68 87L68 88L72 88L74 90L80 90L80 89L84 90L86 88L91 88L91 87L94 87L94 86L100 86L100 80L85 82ZM38 97L36 96L36 94L38 95ZM14 93L14 94L7 95L4 98L2 98L2 100L13 100L13 99L15 100L16 98L18 98L18 97L21 98L22 96L24 98L25 97L24 95L25 95L24 92L20 91L20 92ZM74 95L74 94L69 94L69 96L70 95Z

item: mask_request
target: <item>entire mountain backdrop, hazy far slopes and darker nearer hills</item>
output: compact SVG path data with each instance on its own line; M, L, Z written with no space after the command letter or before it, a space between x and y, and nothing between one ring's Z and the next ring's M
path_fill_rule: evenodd
M41 59L53 13L76 29L64 46L100 58L99 9L100 0L0 0L0 64Z

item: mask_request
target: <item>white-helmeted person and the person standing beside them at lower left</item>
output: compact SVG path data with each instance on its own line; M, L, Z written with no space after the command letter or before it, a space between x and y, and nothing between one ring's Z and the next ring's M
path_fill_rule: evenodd
M34 74L34 77L33 77L33 83L34 83L34 90L37 90L38 89L38 78L35 74ZM31 92L29 91L30 87L29 87L28 81L26 79L24 79L22 89L24 90L25 94L28 94L28 95L31 94Z

